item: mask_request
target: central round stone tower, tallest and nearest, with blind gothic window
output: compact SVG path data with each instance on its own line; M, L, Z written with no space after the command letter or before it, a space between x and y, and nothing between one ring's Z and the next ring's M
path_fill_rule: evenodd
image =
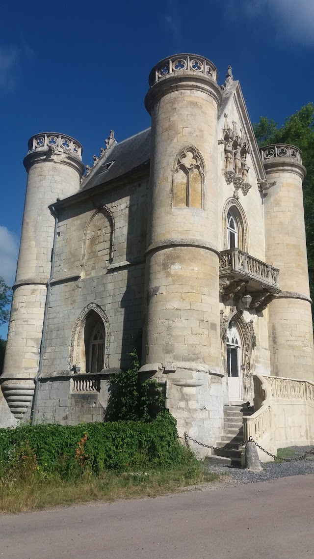
M222 424L215 65L179 54L151 70L142 373L166 381L180 435L215 440Z

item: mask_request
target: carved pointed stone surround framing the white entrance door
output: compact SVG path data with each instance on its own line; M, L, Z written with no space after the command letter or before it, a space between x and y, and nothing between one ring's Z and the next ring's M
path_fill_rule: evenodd
M245 322L243 314L238 312L235 307L231 307L230 314L224 316L223 311L221 311L221 338L223 342L223 362L227 363L227 348L226 348L226 337L227 329L229 326L235 324L237 331L239 332L241 338L241 362L244 364L244 370L242 371L242 386L243 386L243 397L245 400L251 400L254 395L253 390L253 371L254 371L254 345L252 343L251 335L248 329L248 325ZM250 323L248 323L250 325Z

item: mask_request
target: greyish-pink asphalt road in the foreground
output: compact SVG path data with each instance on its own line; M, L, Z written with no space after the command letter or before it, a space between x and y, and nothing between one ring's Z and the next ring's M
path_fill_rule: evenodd
M0 559L313 557L314 475L0 517Z

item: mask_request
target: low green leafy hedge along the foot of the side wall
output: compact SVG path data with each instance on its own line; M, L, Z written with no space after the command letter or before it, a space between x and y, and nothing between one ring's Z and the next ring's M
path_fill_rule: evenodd
M86 471L193 465L193 454L180 444L175 423L164 411L151 421L0 429L0 476L12 468L37 468L42 475L59 473L68 479Z

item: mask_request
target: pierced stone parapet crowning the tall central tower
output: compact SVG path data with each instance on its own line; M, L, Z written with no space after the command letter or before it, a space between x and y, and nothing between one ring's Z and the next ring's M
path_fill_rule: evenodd
M154 83L159 82L168 74L180 72L181 70L190 70L198 74L204 74L208 78L217 82L217 69L208 58L196 54L177 54L160 60L158 64L151 70L149 74L150 87Z

